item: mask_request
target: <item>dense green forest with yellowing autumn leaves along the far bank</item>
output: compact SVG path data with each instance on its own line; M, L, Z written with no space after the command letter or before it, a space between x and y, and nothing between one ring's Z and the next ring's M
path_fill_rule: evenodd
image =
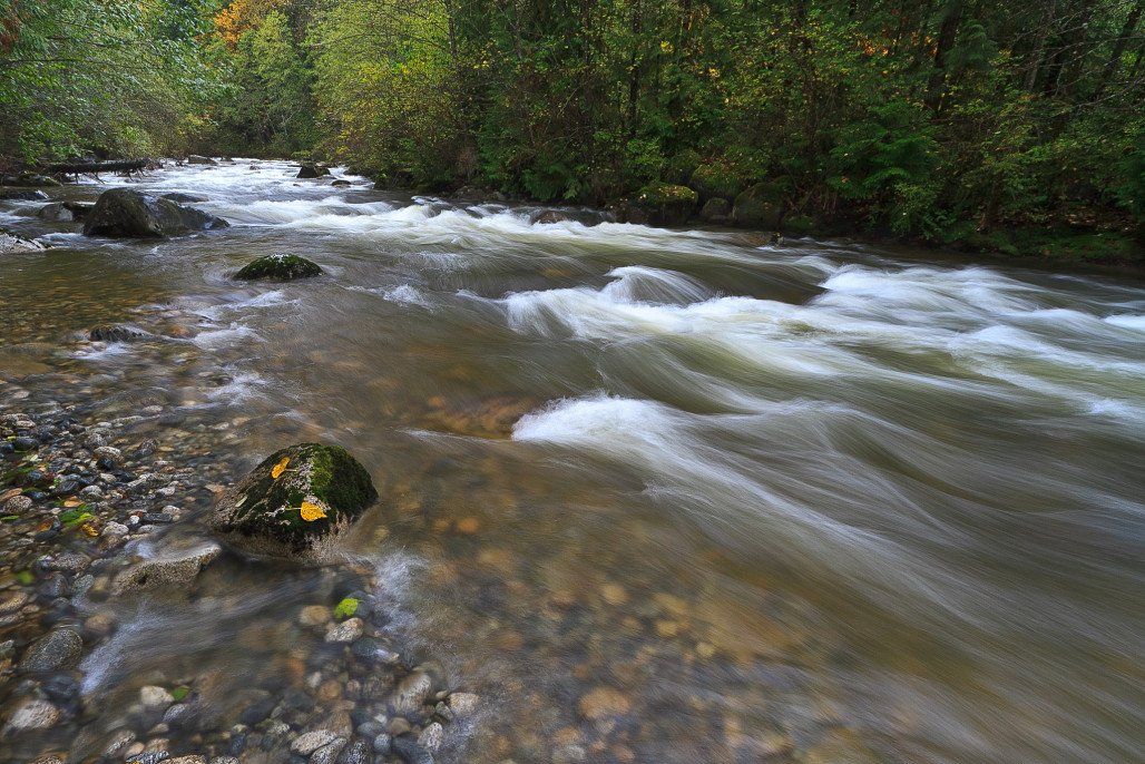
M436 194L1140 259L1143 0L5 3L3 173L315 158Z

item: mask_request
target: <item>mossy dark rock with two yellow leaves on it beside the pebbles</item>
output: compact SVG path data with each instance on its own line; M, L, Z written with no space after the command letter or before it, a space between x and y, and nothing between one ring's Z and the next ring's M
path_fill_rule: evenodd
M319 542L377 499L370 474L346 449L300 443L267 457L223 495L211 527L244 552L314 559Z

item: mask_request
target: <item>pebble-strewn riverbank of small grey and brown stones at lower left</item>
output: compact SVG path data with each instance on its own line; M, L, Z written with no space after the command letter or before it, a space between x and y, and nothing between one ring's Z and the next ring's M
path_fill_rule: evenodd
M450 692L439 663L403 661L373 572L353 562L319 574L324 600L239 635L252 646L267 630L290 635L258 686L235 694L216 667L152 671L111 728L92 724L108 702L93 677L133 628L124 602L222 599L214 584L245 564L198 525L235 465L192 457L194 444L164 436L174 430L141 434L165 419L180 416L151 405L105 419L0 388L0 761L434 761L445 727L480 700Z

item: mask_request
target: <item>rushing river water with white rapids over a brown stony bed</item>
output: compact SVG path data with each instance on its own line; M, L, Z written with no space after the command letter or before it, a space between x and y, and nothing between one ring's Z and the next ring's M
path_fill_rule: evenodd
M349 552L484 700L442 758L1140 761L1137 283L248 165L116 181L232 223L173 241L6 204L57 249L0 259L0 376L160 400L244 468L350 449L382 501ZM230 279L276 252L326 275ZM110 321L167 339L82 340ZM223 578L129 615L85 691L278 670L321 575Z

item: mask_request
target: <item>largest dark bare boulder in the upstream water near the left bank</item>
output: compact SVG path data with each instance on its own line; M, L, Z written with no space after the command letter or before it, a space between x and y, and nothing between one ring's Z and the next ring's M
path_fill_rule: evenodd
M227 228L228 222L171 199L144 196L129 188L104 191L84 222L87 236L166 237Z

